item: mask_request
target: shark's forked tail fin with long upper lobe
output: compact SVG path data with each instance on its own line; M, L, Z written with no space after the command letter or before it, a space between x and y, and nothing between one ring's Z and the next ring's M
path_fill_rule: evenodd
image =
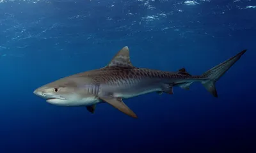
M209 91L214 97L218 97L215 87L216 82L220 79L221 76L225 74L226 71L228 71L229 68L231 68L232 65L235 64L236 61L240 59L240 57L245 52L246 50L243 50L227 61L221 62L217 66L214 66L214 68L209 69L202 75L202 77L209 78L209 80L202 81L201 83L204 85L205 89Z

